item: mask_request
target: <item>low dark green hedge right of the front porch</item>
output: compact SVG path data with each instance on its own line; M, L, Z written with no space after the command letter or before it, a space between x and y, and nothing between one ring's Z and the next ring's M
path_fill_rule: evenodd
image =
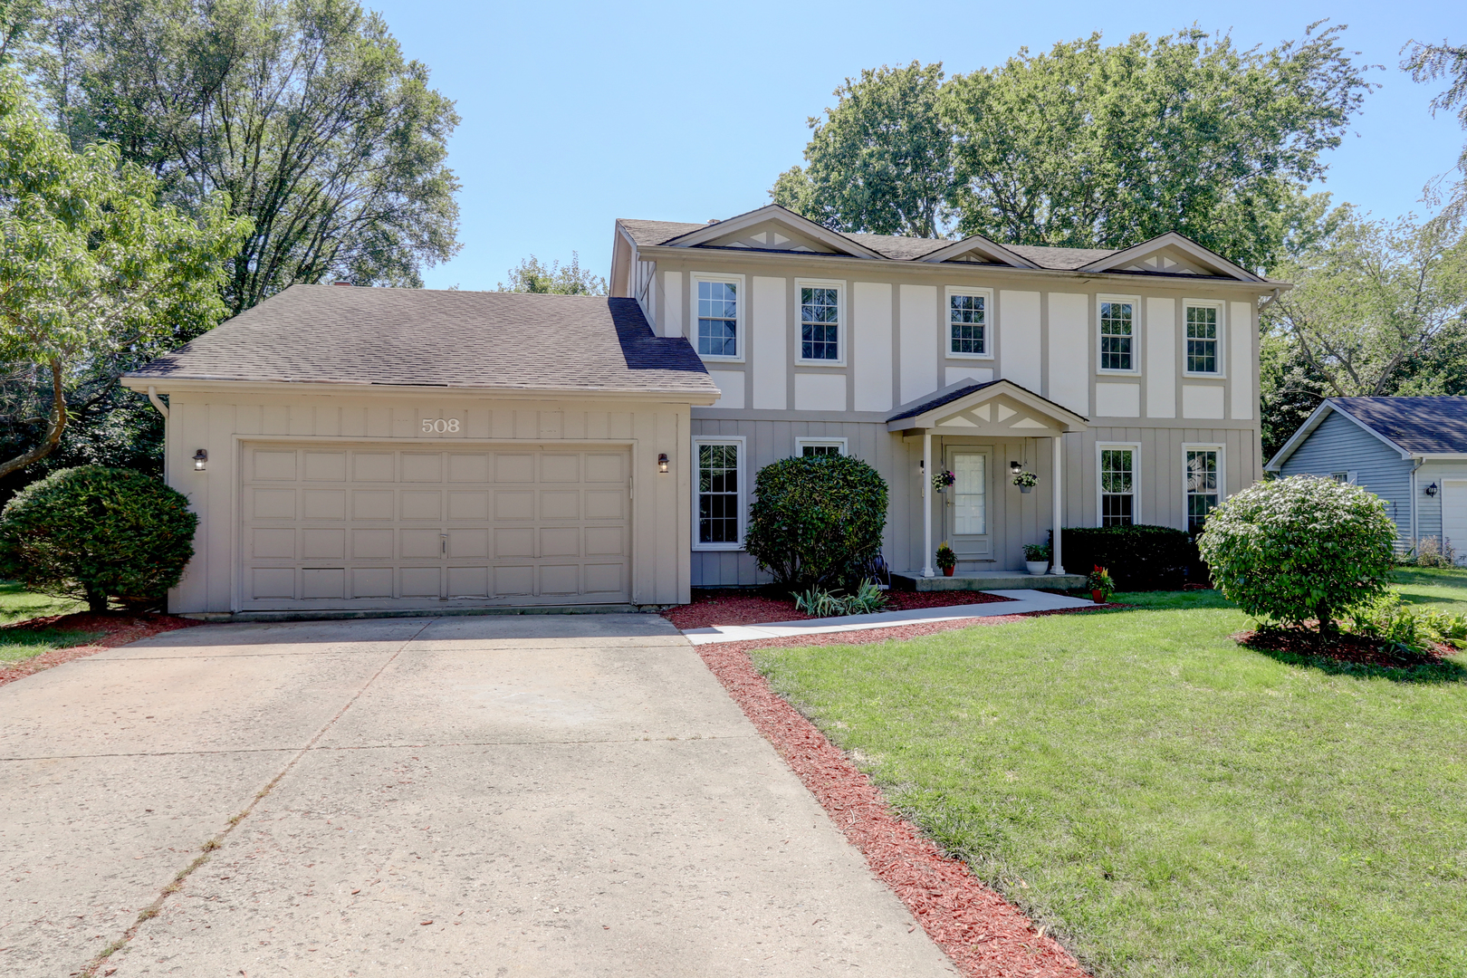
M1197 545L1175 526L1065 526L1061 559L1069 573L1105 567L1119 591L1181 591Z

